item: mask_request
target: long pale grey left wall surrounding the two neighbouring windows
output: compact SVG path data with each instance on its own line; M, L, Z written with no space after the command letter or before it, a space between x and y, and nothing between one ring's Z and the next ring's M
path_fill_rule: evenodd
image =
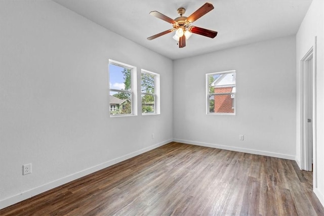
M1 208L172 141L170 59L52 1L0 8ZM160 115L109 117L108 59L160 74Z

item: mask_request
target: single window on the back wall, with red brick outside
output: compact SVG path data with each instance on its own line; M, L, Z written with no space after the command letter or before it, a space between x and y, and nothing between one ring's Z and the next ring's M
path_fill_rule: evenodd
M235 70L206 74L207 114L235 115Z

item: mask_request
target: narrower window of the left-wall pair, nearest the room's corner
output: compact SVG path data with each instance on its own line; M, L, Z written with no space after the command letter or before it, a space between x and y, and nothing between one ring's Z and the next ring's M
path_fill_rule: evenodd
M159 74L141 73L142 114L159 114Z

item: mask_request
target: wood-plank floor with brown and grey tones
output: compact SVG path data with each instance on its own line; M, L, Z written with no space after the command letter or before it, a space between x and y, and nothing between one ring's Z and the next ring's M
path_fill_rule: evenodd
M293 160L170 143L0 215L324 215Z

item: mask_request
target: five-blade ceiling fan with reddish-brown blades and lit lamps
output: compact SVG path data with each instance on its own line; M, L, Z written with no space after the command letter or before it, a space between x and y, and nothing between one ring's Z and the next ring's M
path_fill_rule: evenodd
M200 28L197 26L191 26L191 23L196 21L197 19L199 19L200 17L204 16L205 14L207 14L208 12L210 12L211 10L214 9L214 6L210 3L205 3L203 6L201 6L198 10L196 10L195 12L193 12L189 17L184 17L182 16L186 9L184 8L179 8L178 14L180 15L180 17L177 17L175 19L171 19L170 17L161 14L157 11L151 11L150 15L157 17L161 20L164 20L168 23L172 24L171 29L160 32L158 34L155 34L153 36L148 37L148 40L152 40L155 39L156 37L168 34L170 32L176 31L175 35L173 36L173 38L175 40L178 40L178 44L179 44L179 48L183 48L186 46L186 39L188 39L192 33L195 34L200 34L206 37L211 37L214 38L217 35L217 31L213 31L213 30L209 30L209 29L205 29L205 28Z

